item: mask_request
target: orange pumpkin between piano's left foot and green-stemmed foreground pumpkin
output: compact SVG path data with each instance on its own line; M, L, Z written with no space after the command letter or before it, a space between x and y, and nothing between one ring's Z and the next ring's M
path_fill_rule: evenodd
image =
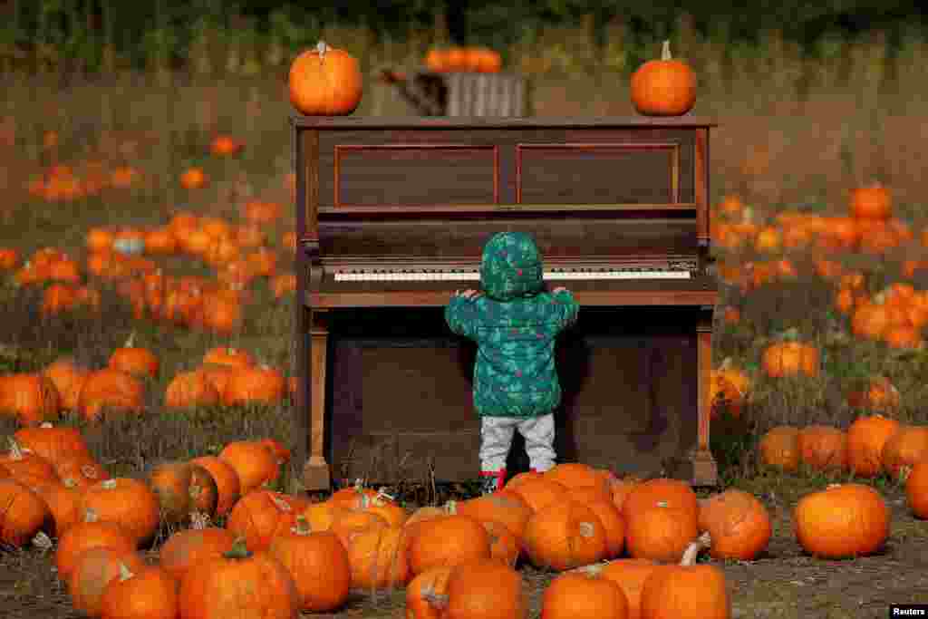
M251 550L264 550L271 540L290 530L299 510L296 499L271 490L254 490L242 496L226 521L226 529L243 537Z

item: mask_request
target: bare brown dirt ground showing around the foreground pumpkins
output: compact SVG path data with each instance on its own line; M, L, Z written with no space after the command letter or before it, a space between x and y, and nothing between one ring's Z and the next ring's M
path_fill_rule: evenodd
M762 496L774 520L774 536L757 561L718 563L728 576L733 617L817 617L864 619L885 617L891 603L924 601L928 587L928 522L917 521L904 496L886 492L893 510L893 531L879 554L846 561L806 556L793 535L793 497ZM157 553L148 555L156 561ZM38 550L4 551L0 555L0 615L9 619L44 616L79 617L71 609L65 587L52 569L53 555ZM540 616L541 596L556 574L520 568L531 596L531 617ZM352 593L340 613L307 614L325 618L365 619L405 616L403 591Z

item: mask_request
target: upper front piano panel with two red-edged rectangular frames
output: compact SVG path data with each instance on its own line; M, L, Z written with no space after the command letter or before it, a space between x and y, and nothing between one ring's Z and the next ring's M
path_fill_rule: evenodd
M665 127L331 129L319 206L692 203L695 148Z

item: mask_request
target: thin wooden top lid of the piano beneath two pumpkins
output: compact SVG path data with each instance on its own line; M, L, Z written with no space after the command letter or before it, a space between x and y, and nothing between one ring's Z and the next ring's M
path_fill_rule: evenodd
M718 126L715 119L702 116L577 116L565 117L463 117L463 116L303 116L290 114L290 124L297 128L318 129L473 129L475 127L546 127L625 128L681 127L706 128Z

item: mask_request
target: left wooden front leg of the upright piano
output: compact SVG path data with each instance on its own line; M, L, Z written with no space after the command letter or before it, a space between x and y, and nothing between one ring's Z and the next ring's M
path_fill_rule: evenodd
M303 485L307 492L329 490L331 476L324 452L326 437L326 353L329 348L329 322L324 311L310 312L309 359L309 458L303 466Z

